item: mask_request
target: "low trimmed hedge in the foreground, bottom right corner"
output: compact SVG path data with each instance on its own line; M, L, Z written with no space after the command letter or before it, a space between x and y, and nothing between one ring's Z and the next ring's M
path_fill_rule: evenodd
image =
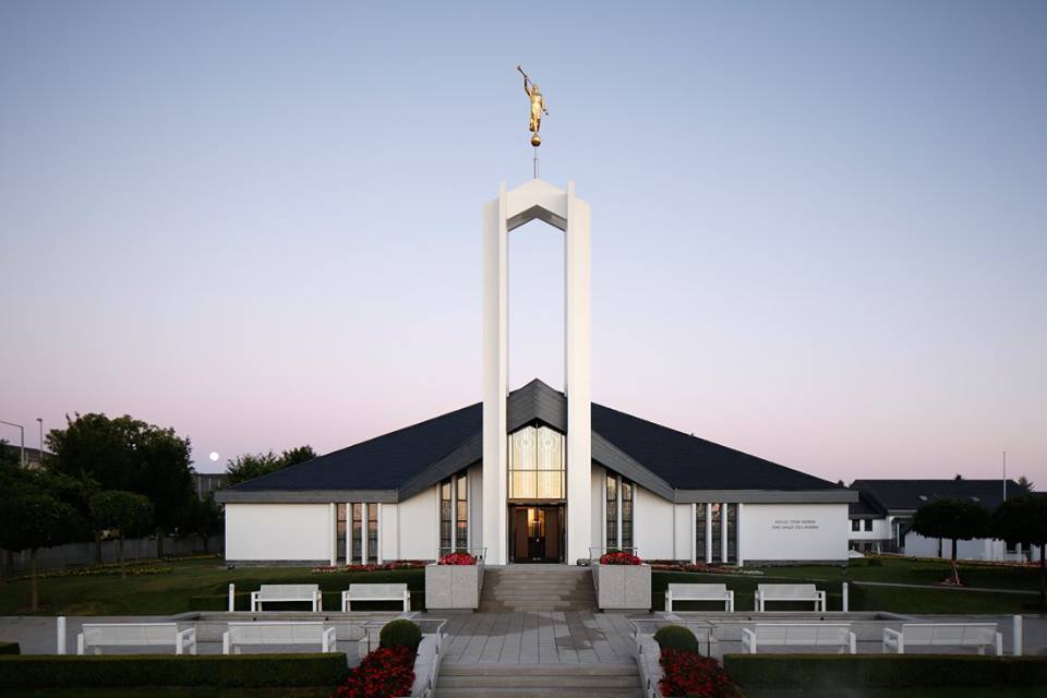
M922 688L1040 686L1047 658L964 654L726 654L742 688Z

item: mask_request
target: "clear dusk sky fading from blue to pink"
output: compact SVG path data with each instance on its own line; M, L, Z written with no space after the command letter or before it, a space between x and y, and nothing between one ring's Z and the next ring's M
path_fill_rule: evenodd
M597 401L1047 486L1043 2L4 2L0 419L130 412L210 469L479 400L517 63L593 207ZM559 386L559 233L512 254L512 382Z

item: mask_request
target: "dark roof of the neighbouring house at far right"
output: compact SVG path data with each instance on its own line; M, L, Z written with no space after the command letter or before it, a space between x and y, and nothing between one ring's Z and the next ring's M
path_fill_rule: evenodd
M990 512L1003 502L1003 480L855 480L852 490L884 510L918 509L931 500L959 498L978 502ZM1022 490L1007 481L1007 495Z

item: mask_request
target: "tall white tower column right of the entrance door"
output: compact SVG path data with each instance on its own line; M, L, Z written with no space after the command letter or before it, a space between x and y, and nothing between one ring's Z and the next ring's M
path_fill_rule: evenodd
M592 282L589 219L589 204L577 198L575 183L567 182L564 370L567 394L568 563L588 557L592 539ZM504 520L505 516L502 518Z

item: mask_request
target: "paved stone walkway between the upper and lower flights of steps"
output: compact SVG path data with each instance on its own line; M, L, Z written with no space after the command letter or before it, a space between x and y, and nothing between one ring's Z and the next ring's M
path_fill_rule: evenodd
M615 613L528 611L450 616L444 661L452 664L631 662L631 626Z

